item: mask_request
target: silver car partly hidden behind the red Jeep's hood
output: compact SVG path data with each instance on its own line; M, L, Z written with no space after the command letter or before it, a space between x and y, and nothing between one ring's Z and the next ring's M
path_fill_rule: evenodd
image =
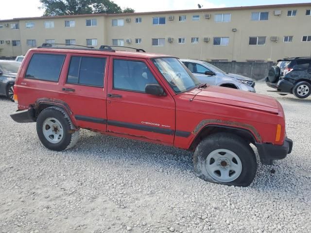
M256 92L255 82L250 78L239 74L226 73L205 61L192 59L181 59L181 61L201 83Z

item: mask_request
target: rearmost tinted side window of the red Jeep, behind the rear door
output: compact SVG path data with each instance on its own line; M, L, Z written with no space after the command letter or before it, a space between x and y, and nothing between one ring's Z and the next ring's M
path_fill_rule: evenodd
M27 79L58 82L65 55L34 54L26 71Z

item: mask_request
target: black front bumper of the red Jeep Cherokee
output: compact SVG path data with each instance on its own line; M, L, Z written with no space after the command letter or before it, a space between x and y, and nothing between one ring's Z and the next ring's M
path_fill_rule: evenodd
M256 143L260 161L265 165L272 165L274 160L284 159L293 149L293 141L285 138L283 145Z

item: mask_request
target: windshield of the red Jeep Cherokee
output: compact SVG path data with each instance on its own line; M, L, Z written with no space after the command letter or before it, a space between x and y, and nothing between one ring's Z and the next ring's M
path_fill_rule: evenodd
M185 65L176 58L156 58L153 62L175 93L188 91L200 84Z

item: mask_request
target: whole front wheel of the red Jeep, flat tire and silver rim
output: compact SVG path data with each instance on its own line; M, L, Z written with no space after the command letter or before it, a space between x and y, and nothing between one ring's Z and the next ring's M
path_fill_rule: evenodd
M193 154L193 165L205 181L244 187L253 182L257 171L254 150L231 133L215 133L202 140Z

